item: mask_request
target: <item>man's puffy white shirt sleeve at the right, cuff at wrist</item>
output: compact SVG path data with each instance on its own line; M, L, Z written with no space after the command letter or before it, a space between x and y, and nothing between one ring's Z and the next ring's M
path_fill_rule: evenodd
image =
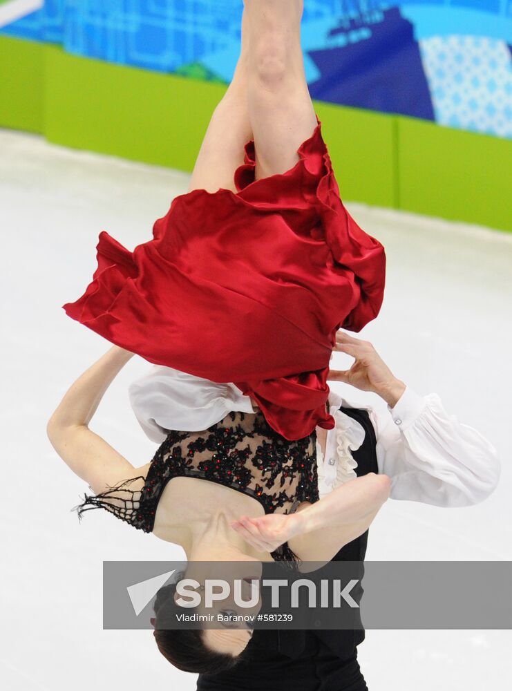
M500 478L494 446L448 415L439 396L406 388L394 408L371 410L379 472L390 498L438 507L466 507L488 497Z

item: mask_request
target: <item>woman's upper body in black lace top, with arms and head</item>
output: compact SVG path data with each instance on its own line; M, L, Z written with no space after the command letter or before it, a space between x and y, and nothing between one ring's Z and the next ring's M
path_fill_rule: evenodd
M88 427L108 385L131 357L114 345L88 368L48 422L48 437L96 493L86 496L79 513L103 507L137 529L181 545L190 562L187 578L205 577L204 568L197 576L193 562L274 558L319 567L364 533L388 498L388 475L368 473L319 499L316 435L287 442L261 411L232 411L199 432L169 430L153 460L134 468ZM267 513L282 520L256 540L252 521ZM229 622L225 630L159 630L159 615L169 621L169 609L176 607L172 588L160 592L155 638L173 665L212 673L236 663L250 630Z

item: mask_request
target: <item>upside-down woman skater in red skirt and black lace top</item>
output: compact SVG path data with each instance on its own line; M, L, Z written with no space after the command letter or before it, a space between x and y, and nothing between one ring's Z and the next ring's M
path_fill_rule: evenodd
M79 513L103 507L182 545L191 562L326 562L388 497L388 477L374 473L318 495L315 428L334 427L325 404L336 330L377 316L385 257L339 197L305 82L302 12L303 0L245 0L240 59L189 192L134 252L102 232L93 282L64 305L115 343L48 423L95 492ZM207 428L168 430L151 463L134 468L88 428L133 353L232 382L242 408ZM237 520L251 531L249 519L267 513L283 514L281 527L255 548ZM159 630L156 618L160 651L190 672L233 665L249 637Z

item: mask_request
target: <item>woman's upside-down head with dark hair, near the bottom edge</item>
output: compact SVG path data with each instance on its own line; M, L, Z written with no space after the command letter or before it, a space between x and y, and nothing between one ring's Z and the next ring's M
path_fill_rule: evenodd
M178 580L184 574L179 574ZM158 591L155 600L155 640L158 650L176 668L195 674L222 672L234 667L251 640L252 631L229 623L217 629L174 628L177 614L202 614L200 607L184 609L176 603L176 583ZM224 612L222 607L218 612Z

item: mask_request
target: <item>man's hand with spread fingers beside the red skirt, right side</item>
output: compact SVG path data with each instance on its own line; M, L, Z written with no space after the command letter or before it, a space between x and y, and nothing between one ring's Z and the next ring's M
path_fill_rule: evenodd
M344 381L362 391L373 391L393 408L406 390L406 385L392 374L379 353L368 341L354 339L343 331L336 332L334 351L346 352L355 358L350 370L329 370L328 379Z

